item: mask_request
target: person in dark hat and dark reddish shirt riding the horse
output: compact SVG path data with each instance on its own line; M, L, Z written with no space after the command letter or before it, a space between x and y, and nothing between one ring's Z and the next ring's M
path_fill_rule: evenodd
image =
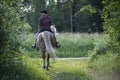
M42 10L42 11L40 11L40 13L41 13L41 17L39 18L39 26L38 26L37 36L40 32L43 32L43 31L49 31L49 32L53 33L51 30L52 20L51 20L50 16L48 16L47 10ZM32 45L32 48L36 48L37 36L36 36L34 45ZM54 35L54 38L56 41L56 48L59 48L60 45L57 42L55 35Z

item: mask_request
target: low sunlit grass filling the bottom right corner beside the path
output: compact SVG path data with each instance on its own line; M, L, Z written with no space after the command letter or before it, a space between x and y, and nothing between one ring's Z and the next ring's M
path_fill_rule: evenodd
M99 80L120 80L119 55L111 52L89 62L93 75Z

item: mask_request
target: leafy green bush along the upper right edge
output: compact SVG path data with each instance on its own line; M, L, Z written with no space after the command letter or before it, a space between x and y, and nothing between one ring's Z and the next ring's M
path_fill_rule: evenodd
M112 51L120 51L120 1L103 1L105 7L102 17L104 18L104 29L106 30L106 43Z

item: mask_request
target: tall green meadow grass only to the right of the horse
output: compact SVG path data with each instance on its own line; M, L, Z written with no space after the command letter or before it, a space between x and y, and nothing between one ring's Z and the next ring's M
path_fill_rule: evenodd
M94 48L93 39L88 34L62 33L58 36L61 48L57 50L59 57L88 56L88 51Z

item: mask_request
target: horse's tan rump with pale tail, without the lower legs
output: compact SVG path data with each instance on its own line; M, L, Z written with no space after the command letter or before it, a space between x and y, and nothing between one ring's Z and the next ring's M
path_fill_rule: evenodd
M38 36L38 46L41 47L40 49L45 49L47 50L48 54L55 59L55 52L53 49L53 46L55 46L55 40L54 36L51 32L44 31L39 34Z

